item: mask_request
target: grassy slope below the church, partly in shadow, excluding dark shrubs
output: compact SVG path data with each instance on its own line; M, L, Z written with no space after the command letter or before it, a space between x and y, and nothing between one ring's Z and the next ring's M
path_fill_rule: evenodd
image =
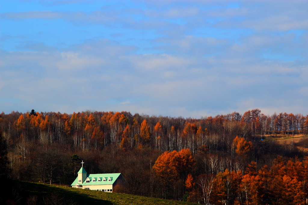
M23 192L23 197L28 198L30 195L37 195L38 202L42 201L43 197L50 196L52 194L59 195L65 199L73 199L77 204L107 204L107 205L117 205L117 204L165 204L165 205L177 205L177 204L193 204L187 202L179 202L173 200L156 199L144 196L136 196L129 194L119 194L119 193L107 193L103 191L92 191L86 189L78 189L72 187L63 187L39 183L30 182L16 182L20 184Z

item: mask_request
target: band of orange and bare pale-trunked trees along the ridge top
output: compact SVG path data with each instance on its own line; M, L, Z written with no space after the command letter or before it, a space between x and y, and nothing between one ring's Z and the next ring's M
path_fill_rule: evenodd
M130 112L86 111L73 114L55 112L0 115L2 135L8 143L38 141L43 146L69 144L82 150L101 150L108 145L132 148L148 146L161 151L200 147L231 146L222 144L217 135L271 138L277 134L307 134L308 115L276 113L264 115L259 109L243 115L233 112L202 119L132 115ZM218 140L218 141L217 141ZM226 139L228 140L228 139Z

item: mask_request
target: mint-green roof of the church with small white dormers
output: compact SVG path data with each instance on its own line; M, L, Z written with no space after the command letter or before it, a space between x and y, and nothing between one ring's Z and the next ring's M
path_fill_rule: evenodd
M83 167L82 167L83 168ZM83 169L84 170L84 169ZM81 169L80 169L81 171ZM81 172L78 172L81 173ZM83 172L84 173L84 172ZM75 186L76 183L79 185L111 185L113 184L116 179L121 175L121 173L111 173L111 174L87 174L87 177L82 183L78 183L78 177L74 180L74 182L71 184L71 186ZM90 182L86 183L86 179L89 178ZM93 178L95 178L95 182L93 182ZM103 178L106 179L106 181L103 181ZM111 179L111 181L108 181L108 179ZM100 179L100 182L98 181Z

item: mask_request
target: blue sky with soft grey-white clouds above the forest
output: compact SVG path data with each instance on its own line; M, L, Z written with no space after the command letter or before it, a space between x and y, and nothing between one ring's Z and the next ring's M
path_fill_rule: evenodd
M0 112L308 114L308 1L0 0Z

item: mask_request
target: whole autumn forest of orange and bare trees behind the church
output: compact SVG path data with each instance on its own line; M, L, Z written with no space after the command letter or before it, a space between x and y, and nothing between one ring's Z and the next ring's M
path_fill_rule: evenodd
M0 114L1 177L69 186L81 167L115 192L201 204L308 204L308 115L201 119L83 111ZM301 137L297 143L278 138ZM306 186L307 185L307 186Z

